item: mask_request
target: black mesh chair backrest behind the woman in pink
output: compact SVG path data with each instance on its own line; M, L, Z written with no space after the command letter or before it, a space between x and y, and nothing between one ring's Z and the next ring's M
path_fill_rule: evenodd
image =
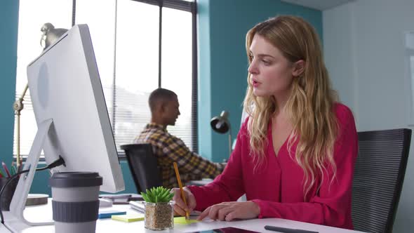
M392 232L410 150L406 128L358 133L352 221L363 232Z

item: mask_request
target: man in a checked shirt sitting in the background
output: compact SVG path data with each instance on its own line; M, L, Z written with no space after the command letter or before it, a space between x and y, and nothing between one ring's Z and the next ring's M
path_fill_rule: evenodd
M152 114L151 123L145 126L134 143L152 144L152 151L160 167L163 187L178 187L174 161L178 165L183 184L189 180L215 178L223 171L225 164L213 163L191 152L180 138L166 130L167 126L175 125L175 120L180 115L178 97L173 91L158 88L149 95L148 102Z

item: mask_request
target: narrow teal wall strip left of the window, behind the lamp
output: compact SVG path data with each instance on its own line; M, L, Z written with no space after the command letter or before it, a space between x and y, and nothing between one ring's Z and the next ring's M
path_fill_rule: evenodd
M4 0L0 6L0 160L8 166L13 156L13 102L18 46L19 1Z

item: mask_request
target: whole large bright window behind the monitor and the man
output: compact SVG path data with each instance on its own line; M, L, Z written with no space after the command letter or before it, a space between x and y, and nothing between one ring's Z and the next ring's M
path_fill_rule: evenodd
M72 22L86 23L120 154L119 146L131 143L150 121L147 100L157 87L175 91L180 101L181 115L168 131L197 151L195 11L191 0L20 0L16 98L27 84L27 64L41 53L41 25L69 29ZM29 93L23 103L20 154L25 156L37 128Z

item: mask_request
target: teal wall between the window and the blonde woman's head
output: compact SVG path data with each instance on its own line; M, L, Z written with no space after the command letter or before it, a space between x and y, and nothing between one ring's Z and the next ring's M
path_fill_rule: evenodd
M299 15L322 37L322 13L278 0L199 0L199 153L213 161L229 157L228 136L210 119L229 112L232 137L239 131L247 87L246 32L274 15Z

